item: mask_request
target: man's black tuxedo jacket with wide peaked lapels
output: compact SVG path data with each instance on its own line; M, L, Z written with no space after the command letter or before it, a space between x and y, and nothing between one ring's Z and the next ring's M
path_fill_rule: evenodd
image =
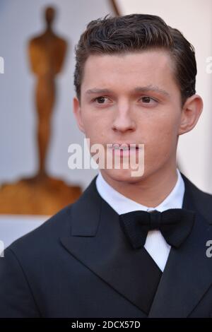
M132 249L95 179L83 195L0 259L1 317L211 317L212 196L184 175L183 207L196 211L191 235L160 271Z

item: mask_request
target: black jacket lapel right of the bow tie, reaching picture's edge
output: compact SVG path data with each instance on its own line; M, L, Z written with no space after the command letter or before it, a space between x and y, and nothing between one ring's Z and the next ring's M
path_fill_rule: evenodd
M196 211L191 235L179 249L172 248L149 317L187 317L212 283L212 260L206 242L212 239L211 196L185 183L183 208Z

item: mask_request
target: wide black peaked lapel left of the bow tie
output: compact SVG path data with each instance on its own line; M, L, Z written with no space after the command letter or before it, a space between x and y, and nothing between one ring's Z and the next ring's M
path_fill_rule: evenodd
M95 179L72 204L71 236L61 237L61 243L146 316L162 273L146 249L131 249L119 215L98 194Z

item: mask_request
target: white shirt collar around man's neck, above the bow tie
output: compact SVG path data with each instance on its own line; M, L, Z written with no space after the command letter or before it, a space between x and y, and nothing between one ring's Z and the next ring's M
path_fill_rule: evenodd
M158 210L160 212L169 208L182 208L182 201L184 196L184 180L177 169L177 182L170 194L155 208L143 206L140 203L120 194L110 184L108 184L99 172L96 178L96 187L100 196L116 211L118 214L128 213L131 211L142 210L151 211Z

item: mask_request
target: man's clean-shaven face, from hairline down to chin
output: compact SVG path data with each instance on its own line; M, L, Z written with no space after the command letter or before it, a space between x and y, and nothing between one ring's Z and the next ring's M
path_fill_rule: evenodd
M182 108L172 66L163 50L88 57L81 104L75 98L73 105L90 146L100 143L106 150L112 143L144 144L141 177L131 177L130 167L102 169L105 177L138 182L175 167Z

